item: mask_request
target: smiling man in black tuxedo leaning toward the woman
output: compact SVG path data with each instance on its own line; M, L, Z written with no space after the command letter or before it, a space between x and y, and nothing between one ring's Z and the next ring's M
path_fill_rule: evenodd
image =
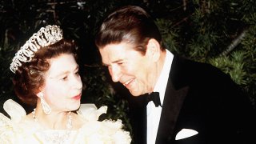
M134 143L253 142L256 122L249 98L214 66L166 50L154 20L141 7L110 14L95 43L112 80L134 96Z

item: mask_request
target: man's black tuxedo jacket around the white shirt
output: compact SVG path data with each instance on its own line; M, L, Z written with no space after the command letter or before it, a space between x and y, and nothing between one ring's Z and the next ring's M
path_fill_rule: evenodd
M130 99L133 142L138 144L146 143L144 101L144 97ZM174 55L157 144L255 143L256 121L253 121L254 111L249 98L228 75L209 64ZM175 140L182 129L196 130L198 134Z

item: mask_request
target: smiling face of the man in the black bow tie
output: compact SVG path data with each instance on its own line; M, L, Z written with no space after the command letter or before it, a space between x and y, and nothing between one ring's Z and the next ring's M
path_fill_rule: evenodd
M154 61L147 51L142 55L126 42L109 44L99 51L113 82L121 82L130 94L139 96L154 89Z

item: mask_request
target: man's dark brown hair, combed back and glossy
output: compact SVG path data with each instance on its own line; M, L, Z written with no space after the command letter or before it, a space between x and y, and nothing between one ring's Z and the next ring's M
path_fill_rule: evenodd
M154 19L139 6L124 6L110 14L100 26L95 44L102 48L111 43L128 42L134 49L146 53L150 38L162 43L162 36Z

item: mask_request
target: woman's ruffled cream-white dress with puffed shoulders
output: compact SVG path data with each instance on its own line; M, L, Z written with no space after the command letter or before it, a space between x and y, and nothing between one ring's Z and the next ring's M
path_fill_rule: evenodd
M129 144L130 133L122 130L122 121L98 121L99 115L106 113L107 106L97 109L94 104L82 104L77 111L85 120L79 130L43 130L38 122L27 119L26 111L17 102L7 100L4 110L7 118L0 113L0 144L9 143L69 143L69 144Z

